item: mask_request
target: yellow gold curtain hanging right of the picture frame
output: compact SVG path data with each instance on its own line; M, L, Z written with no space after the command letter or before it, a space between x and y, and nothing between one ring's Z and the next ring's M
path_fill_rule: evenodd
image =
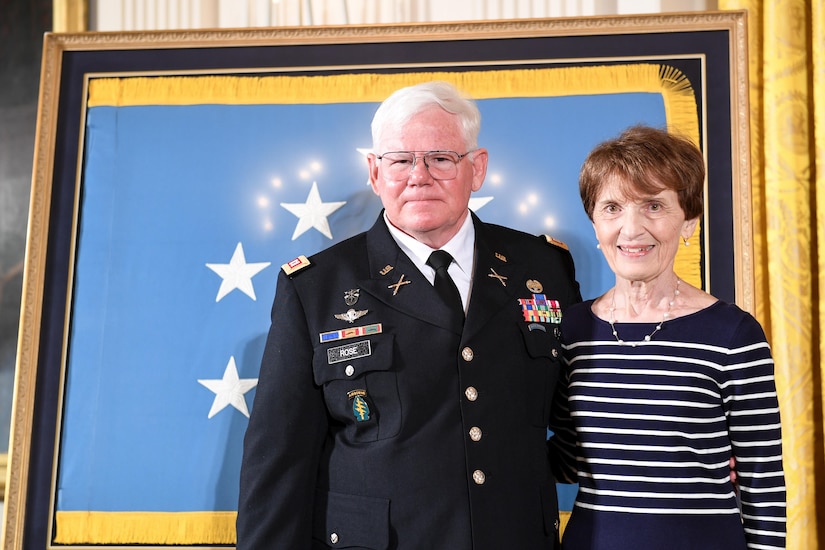
M776 362L787 547L817 550L825 548L825 521L817 522L825 518L825 6L720 0L719 7L748 11L754 303Z

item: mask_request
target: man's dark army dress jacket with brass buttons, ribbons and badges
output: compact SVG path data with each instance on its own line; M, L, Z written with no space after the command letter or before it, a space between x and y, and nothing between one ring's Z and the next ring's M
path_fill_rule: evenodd
M473 215L463 326L379 216L280 273L244 440L238 548L554 548L546 430L566 249ZM348 313L349 312L349 313Z

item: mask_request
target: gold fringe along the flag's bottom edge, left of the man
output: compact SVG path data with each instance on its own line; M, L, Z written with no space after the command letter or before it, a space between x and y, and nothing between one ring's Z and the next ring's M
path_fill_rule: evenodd
M237 512L57 512L58 544L235 544Z

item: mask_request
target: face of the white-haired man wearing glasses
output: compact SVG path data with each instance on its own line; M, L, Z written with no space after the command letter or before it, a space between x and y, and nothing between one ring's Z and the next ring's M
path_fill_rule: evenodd
M459 119L440 107L414 115L402 128L384 131L375 154L368 156L370 184L390 222L432 248L439 248L461 228L467 216L470 193L481 189L487 172L487 151L476 150L458 161L452 179L434 179L427 170L424 151L467 152ZM390 151L416 151L414 169L406 178L387 179L376 158ZM472 160L471 158L472 157Z

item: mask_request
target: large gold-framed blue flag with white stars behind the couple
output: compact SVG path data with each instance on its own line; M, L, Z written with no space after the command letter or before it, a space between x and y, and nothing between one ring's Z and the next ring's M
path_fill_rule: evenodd
M47 35L4 548L234 544L277 271L374 222L370 120L402 86L478 101L490 163L470 207L564 241L585 297L612 274L582 160L633 124L688 135L706 207L677 269L752 310L744 28L720 12Z

